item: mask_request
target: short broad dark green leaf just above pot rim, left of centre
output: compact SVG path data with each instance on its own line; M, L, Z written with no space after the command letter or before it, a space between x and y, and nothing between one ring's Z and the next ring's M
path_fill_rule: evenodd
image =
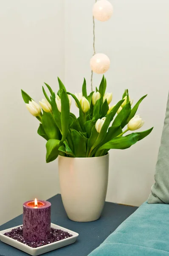
M74 145L74 154L76 157L85 157L86 156L86 141L76 130L71 130L73 145Z

